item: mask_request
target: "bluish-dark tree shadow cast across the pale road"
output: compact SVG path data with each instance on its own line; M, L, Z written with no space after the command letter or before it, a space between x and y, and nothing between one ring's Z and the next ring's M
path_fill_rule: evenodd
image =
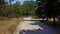
M40 21L34 21L35 23L30 23L31 25L38 25L43 28L41 30L40 28L35 29L35 30L22 30L19 33L20 34L60 34L57 31L55 31L53 28L50 26L40 22Z

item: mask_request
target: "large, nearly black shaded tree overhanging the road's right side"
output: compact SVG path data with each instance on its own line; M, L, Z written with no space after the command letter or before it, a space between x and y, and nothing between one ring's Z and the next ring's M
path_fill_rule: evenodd
M53 18L55 24L55 18L60 17L60 0L37 0L36 6L35 13L40 18Z

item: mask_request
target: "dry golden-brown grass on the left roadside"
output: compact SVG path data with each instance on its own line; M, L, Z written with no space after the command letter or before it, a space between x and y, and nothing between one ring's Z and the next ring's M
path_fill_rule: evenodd
M13 34L18 23L17 18L0 20L0 34Z

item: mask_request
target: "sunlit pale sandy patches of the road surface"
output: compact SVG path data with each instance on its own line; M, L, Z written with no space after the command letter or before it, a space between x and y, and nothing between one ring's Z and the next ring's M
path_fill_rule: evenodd
M27 20L27 19L31 19L30 17L28 17L28 18L23 18L23 19L25 19L25 20ZM19 25L17 26L17 31L14 33L14 34L19 34L19 32L20 31L22 31L22 30L36 30L36 29L41 29L41 30L43 30L43 28L42 27L40 27L40 26L38 26L38 25L31 25L30 23L35 23L34 21L21 21L20 23L19 23Z

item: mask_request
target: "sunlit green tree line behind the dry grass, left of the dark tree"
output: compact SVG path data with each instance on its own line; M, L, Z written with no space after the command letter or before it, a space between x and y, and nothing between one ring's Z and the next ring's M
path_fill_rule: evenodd
M34 1L24 1L21 4L19 1L12 4L12 1L9 0L0 0L0 17L20 17L20 16L31 16L34 15Z

